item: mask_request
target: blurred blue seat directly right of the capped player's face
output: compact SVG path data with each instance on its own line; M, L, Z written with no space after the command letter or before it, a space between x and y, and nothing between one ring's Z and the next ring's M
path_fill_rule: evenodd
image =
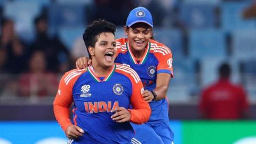
M185 57L181 30L154 28L153 33L156 41L165 44L171 49L174 59L176 57Z

